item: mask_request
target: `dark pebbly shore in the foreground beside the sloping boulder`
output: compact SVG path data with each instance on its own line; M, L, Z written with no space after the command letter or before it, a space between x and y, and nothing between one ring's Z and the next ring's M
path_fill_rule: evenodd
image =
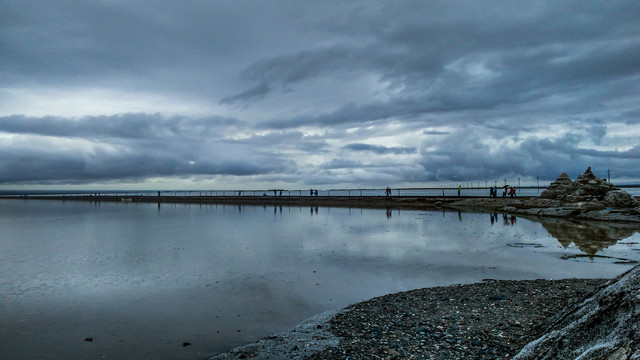
M487 279L389 294L212 359L510 359L606 282Z

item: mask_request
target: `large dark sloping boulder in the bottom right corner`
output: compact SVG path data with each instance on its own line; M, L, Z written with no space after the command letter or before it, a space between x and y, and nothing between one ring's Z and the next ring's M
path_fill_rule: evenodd
M640 267L613 279L551 321L513 360L640 359Z

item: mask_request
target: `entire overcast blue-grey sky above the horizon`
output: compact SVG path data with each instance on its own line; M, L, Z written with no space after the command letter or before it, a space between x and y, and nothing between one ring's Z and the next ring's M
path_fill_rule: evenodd
M639 160L635 0L0 0L0 188L635 181Z

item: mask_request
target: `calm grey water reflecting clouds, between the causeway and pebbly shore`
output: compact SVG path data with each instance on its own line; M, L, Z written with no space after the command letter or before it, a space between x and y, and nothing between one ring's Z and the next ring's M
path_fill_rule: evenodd
M639 241L501 214L0 200L0 358L201 359L391 292L613 277Z

